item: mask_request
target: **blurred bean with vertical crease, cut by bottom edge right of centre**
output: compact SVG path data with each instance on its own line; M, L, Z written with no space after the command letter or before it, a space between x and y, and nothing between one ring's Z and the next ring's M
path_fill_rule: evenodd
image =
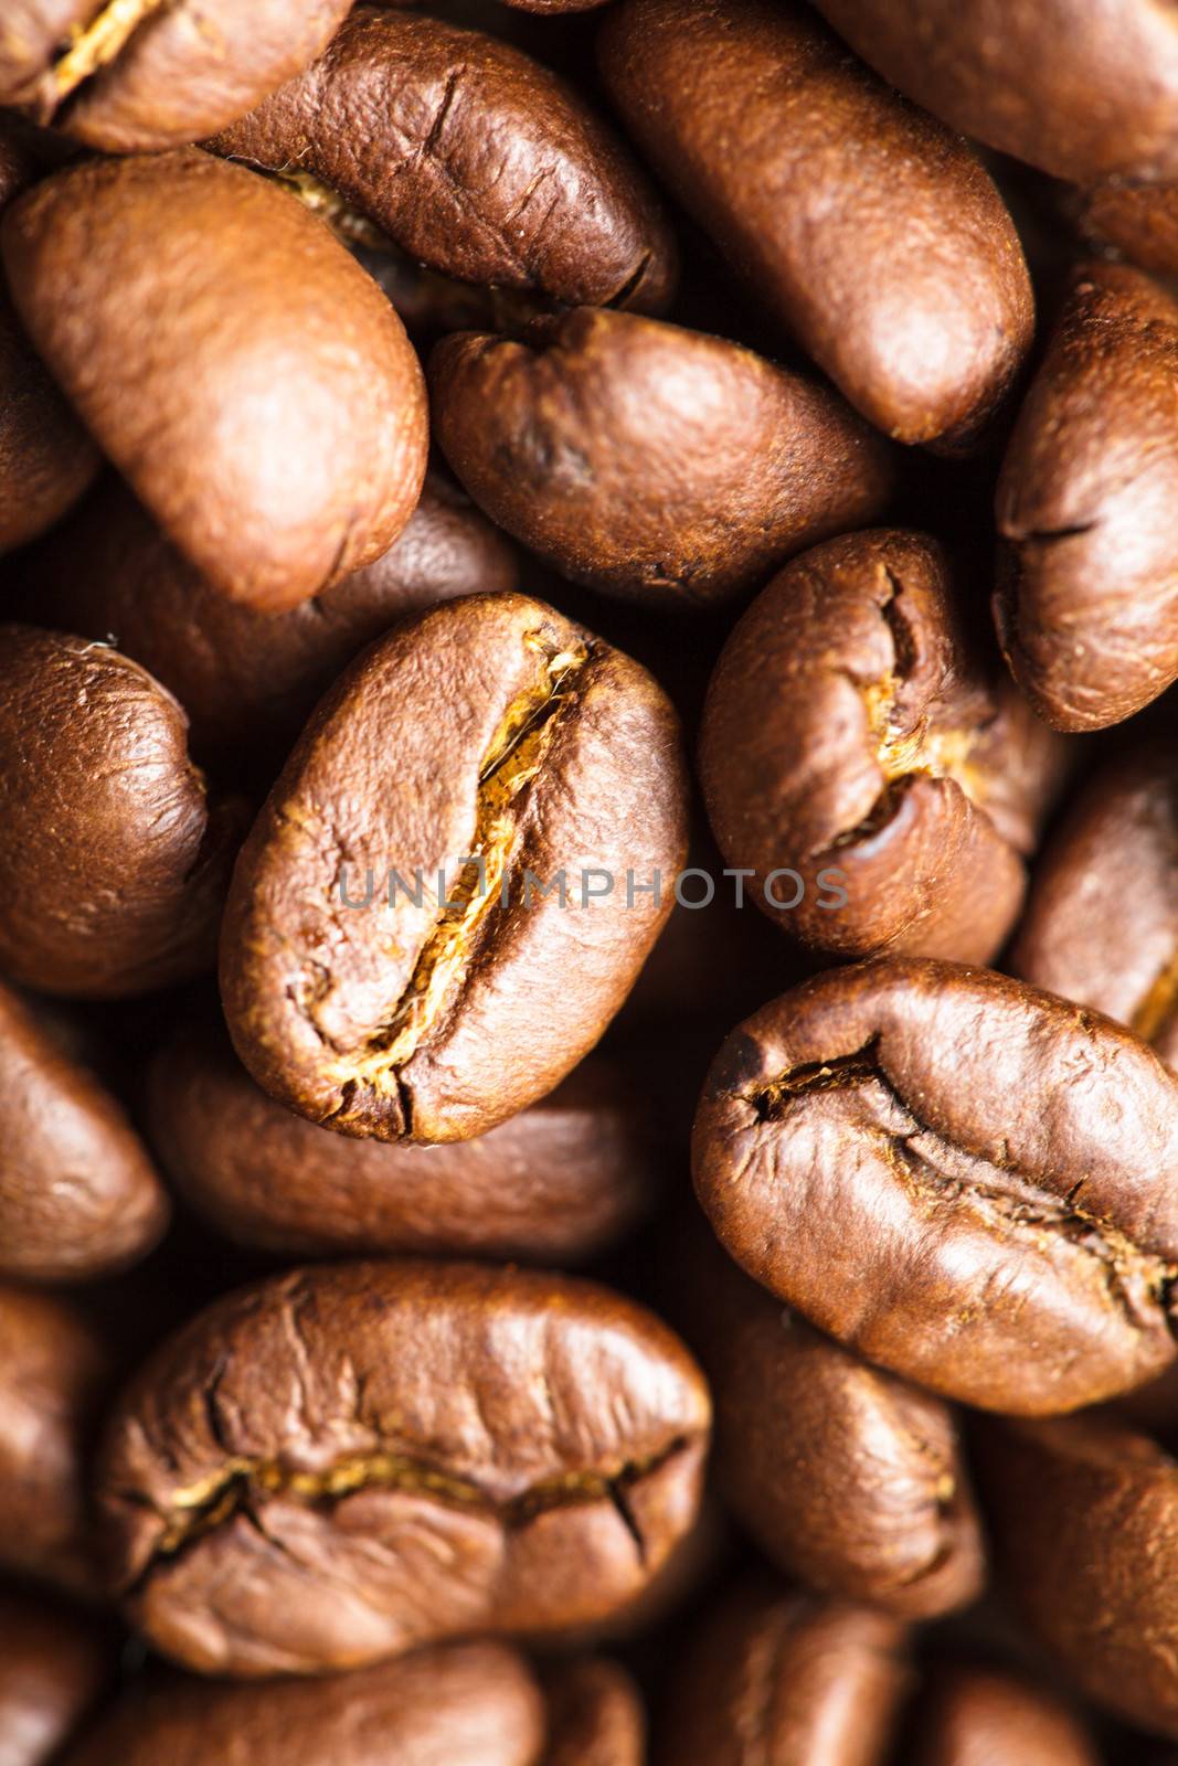
M742 1588L712 1611L668 1701L661 1766L883 1766L908 1692L885 1612Z

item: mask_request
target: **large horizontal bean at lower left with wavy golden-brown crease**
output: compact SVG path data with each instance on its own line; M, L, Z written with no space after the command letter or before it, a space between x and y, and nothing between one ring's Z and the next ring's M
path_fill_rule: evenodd
M708 1393L652 1314L473 1264L293 1272L214 1303L115 1406L115 1588L256 1678L588 1625L691 1528Z

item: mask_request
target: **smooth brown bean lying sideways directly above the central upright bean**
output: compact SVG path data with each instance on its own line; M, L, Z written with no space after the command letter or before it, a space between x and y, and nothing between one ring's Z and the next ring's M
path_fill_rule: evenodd
M738 595L892 489L885 443L835 394L631 313L443 339L429 385L475 502L562 576L636 600Z

